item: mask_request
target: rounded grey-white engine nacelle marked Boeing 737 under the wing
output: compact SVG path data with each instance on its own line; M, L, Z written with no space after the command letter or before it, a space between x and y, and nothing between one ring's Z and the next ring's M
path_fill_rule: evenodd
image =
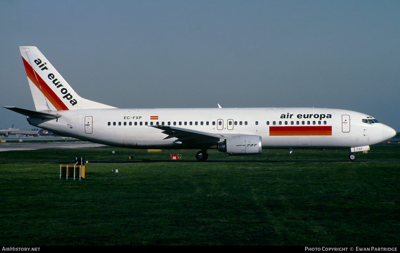
M258 135L238 135L218 143L218 151L226 152L228 155L260 154L261 149L261 136Z

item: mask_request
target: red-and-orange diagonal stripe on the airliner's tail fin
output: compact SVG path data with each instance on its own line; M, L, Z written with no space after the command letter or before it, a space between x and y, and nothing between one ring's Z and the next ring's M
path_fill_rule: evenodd
M22 57L28 78L36 85L43 95L52 103L57 110L69 110L54 91L43 81L30 64Z

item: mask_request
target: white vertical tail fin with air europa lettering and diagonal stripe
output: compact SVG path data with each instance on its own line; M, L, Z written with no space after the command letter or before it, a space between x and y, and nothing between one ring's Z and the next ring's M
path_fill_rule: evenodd
M115 108L80 97L34 46L20 46L36 111Z

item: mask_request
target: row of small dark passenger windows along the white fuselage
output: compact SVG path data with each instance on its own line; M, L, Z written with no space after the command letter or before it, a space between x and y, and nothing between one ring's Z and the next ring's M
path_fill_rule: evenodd
M134 126L143 126L143 123L144 123L144 126L148 126L149 124L148 124L148 122L146 121L146 122L112 122L112 125L113 126L116 126L117 124L118 124L118 126L122 126L122 125L124 125L124 126L127 126L127 125L129 125L129 126L132 126L132 124L134 125ZM187 122L187 121L185 121L185 122L178 122L178 125L179 126L182 126L182 123L183 123L183 125L184 126L187 126L188 125L188 123L189 123L189 126L192 126L193 125L193 122L192 121L190 121L190 122ZM194 122L194 125L195 126L198 126L198 123L199 122L197 122L197 121L195 121ZM210 122L208 122L208 121L206 121L205 122L206 123L206 126L209 126L210 125ZM245 122L242 122L242 121L239 121L239 122L237 122L237 121L235 121L235 122L233 122L233 121L231 121L231 120L228 120L228 125L229 126L232 126L232 123L236 126L236 125L238 125L239 124L239 126L242 126L243 125L243 123L244 123L244 125L245 126L247 126L247 121L245 121ZM270 125L270 122L269 121L267 121L266 122L267 123L267 125ZM282 123L283 124L285 124L285 125L289 125L289 122L288 121L285 121L285 122L282 122L282 121L279 121L278 122L278 125L282 125ZM301 123L301 124L300 124ZM174 122L172 122L172 125L173 126L176 126L176 124L177 124L177 122L176 121L174 121ZM255 124L256 125L258 125L258 121L256 121L255 122ZM294 123L294 121L291 121L290 122L290 125L294 125L295 123ZM313 121L312 122L312 125L316 125L317 124L317 122L316 121ZM152 122L152 121L150 121L150 126L153 126L153 125L160 125L160 122ZM164 121L162 121L161 122L161 125L165 125L165 122ZM167 125L168 126L171 126L171 122L170 121L168 121L167 122ZM203 121L200 121L200 126L203 126L204 125L204 122ZM212 122L212 126L215 126L216 125L216 122L215 121L213 121ZM218 125L219 126L222 126L222 121L218 121ZM273 121L272 122L272 125L276 125L276 121ZM296 125L311 125L311 121L302 121L302 122L300 122L300 121L296 121ZM318 125L322 125L322 122L321 121L318 121ZM326 121L324 121L324 125L326 125ZM108 122L108 126L111 126L111 122Z

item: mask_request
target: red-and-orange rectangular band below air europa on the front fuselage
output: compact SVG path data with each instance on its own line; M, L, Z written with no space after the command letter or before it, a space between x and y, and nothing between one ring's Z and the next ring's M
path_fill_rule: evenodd
M270 136L332 135L332 126L270 126Z

